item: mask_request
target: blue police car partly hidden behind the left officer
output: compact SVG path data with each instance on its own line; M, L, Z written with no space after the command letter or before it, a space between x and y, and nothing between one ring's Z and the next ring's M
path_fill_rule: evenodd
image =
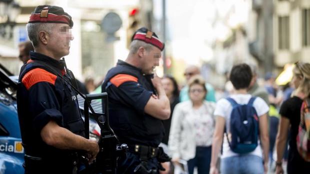
M0 174L24 174L24 150L16 106L17 80L18 77L0 64ZM78 99L83 103L82 98ZM100 136L100 128L94 120L89 120L89 132L90 137L98 139Z

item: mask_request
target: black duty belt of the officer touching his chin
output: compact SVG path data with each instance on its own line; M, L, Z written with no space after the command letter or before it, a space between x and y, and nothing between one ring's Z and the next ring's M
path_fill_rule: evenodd
M128 145L128 151L140 156L154 158L158 156L159 148L144 145Z

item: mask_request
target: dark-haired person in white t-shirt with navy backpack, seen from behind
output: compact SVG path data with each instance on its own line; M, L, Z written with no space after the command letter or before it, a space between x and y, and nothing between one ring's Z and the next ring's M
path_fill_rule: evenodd
M251 79L252 72L247 64L232 67L229 80L235 93L216 103L216 124L209 174L219 173L216 163L222 142L221 174L267 172L269 107L261 98L247 93Z

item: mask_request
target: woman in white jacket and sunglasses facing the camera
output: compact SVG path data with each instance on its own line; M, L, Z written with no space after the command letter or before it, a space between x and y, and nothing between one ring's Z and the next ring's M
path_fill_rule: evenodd
M188 173L208 174L214 130L215 103L205 101L207 93L202 76L188 82L189 101L178 103L173 111L168 147L172 162L187 161Z

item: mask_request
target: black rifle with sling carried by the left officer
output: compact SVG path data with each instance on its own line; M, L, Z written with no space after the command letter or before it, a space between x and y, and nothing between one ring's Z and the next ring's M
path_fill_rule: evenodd
M107 93L99 94L82 94L76 87L75 77L73 73L66 68L65 61L63 63L67 71L68 79L64 78L59 72L54 70L48 64L43 61L35 60L36 63L44 66L48 71L56 74L57 77L65 81L78 95L77 98L84 99L84 127L85 127L85 138L89 139L89 110L95 118L98 126L100 127L100 138L98 141L99 153L96 156L96 160L92 165L87 165L88 161L85 157L80 159L86 166L85 171L87 174L116 174L117 159L118 157L124 156L128 147L126 144L119 145L119 141L114 134L113 130L109 126L108 121L108 99ZM102 107L102 113L95 112L93 107L90 105L92 100L101 99L104 108ZM79 101L79 100L78 100ZM101 107L101 103L100 103ZM80 108L81 109L81 108ZM89 109L89 110L88 110Z

